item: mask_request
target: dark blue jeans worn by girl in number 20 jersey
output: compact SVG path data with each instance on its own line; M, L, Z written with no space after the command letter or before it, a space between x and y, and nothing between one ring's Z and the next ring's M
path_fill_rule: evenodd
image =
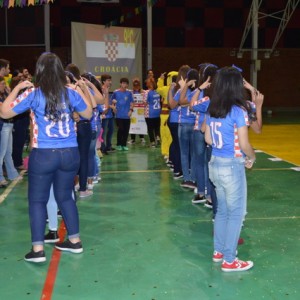
M30 152L28 168L28 200L31 240L33 245L44 244L47 202L50 188L62 213L69 238L79 236L79 218L73 199L74 177L79 168L77 147L40 149Z

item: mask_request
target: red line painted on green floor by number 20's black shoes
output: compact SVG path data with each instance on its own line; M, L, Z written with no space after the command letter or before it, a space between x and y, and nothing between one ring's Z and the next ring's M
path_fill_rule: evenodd
M66 226L64 221L62 220L58 230L58 236L60 238L60 241L63 241L65 239L66 232L67 232ZM52 257L50 260L48 272L47 272L47 277L44 283L44 288L42 291L42 296L41 296L42 300L50 300L52 297L60 257L61 257L61 251L54 248L52 252Z

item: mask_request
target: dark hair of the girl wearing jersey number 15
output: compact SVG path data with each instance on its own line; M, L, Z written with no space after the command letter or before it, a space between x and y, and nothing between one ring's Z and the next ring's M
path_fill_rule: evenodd
M245 101L243 77L237 69L224 67L217 72L212 82L208 112L211 117L225 118L234 105L249 110Z

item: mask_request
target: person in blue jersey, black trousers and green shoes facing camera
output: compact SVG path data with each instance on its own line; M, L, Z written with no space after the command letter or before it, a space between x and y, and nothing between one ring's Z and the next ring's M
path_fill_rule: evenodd
M130 117L133 112L133 95L128 90L128 78L120 79L120 88L112 94L112 102L115 105L116 122L118 126L117 150L128 151L127 139L130 128Z

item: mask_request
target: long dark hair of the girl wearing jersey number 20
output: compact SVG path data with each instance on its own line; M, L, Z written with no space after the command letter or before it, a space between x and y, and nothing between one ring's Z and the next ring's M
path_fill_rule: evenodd
M58 56L43 53L35 69L35 86L40 88L46 98L45 116L52 121L61 120L62 113L69 106L67 79Z

